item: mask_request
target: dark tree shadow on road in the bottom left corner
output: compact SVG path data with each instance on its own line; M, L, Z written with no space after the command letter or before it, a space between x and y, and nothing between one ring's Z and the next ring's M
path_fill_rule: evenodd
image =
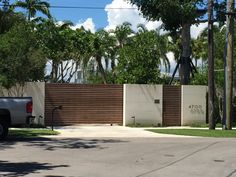
M51 165L49 163L19 162L12 163L0 160L0 176L25 176L27 174L39 173L39 170L53 170L54 168L66 168L68 165Z

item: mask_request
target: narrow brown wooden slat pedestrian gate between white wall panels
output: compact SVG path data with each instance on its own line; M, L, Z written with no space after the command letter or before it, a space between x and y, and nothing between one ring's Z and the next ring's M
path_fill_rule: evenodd
M163 86L163 125L181 125L181 87Z

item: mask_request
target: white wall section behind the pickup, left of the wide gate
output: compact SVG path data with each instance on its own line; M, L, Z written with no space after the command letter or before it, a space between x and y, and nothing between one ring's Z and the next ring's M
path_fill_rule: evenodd
M2 89L0 96L12 97L32 97L33 113L35 116L34 123L44 125L44 109L45 109L45 83L44 82L28 82L25 86L13 87L10 90Z

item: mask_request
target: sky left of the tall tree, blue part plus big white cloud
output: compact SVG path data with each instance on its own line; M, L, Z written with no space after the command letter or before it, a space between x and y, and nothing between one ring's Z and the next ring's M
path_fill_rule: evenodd
M13 3L16 0L10 0ZM24 1L24 0L18 0ZM148 22L137 8L131 6L127 0L42 0L52 6L50 12L57 21L70 20L74 26L83 25L85 29L96 31L100 28L114 29L117 25L129 22L133 29L138 24L144 24L148 29L156 29L160 22ZM56 6L56 7L55 7ZM81 8L58 8L57 6L81 7ZM83 9L82 7L99 7L101 9ZM115 9L114 9L115 8ZM130 9L131 8L131 9ZM17 11L25 12L22 8ZM42 14L37 14L42 15ZM86 28L87 27L87 28Z

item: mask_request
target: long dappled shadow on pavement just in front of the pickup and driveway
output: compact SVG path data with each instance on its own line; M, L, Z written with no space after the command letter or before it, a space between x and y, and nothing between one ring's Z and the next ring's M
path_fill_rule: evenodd
M0 142L0 150L14 148L14 145L21 143L24 146L42 148L48 151L57 149L105 149L108 143L126 143L118 139L79 139L79 138L9 138Z

